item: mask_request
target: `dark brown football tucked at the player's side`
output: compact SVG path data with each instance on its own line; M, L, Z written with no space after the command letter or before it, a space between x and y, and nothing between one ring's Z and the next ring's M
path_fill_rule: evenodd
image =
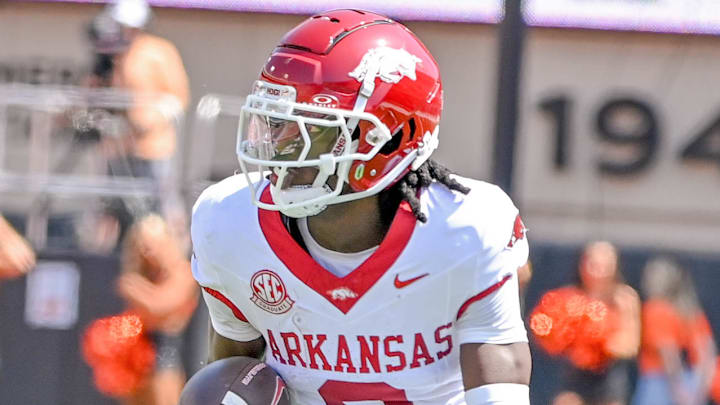
M251 357L210 363L185 384L179 405L290 405L282 378Z

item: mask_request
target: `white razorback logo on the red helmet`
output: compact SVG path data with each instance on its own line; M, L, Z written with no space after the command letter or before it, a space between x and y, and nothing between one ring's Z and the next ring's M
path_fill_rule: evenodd
M360 64L348 75L359 82L368 75L372 79L379 77L385 83L397 83L403 77L415 80L415 65L420 62L420 58L404 49L384 46L367 51Z

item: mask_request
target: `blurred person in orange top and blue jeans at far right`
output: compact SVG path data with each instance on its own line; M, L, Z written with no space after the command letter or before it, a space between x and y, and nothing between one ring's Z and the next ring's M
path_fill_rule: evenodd
M715 370L712 331L690 274L667 258L650 261L642 290L643 338L633 405L704 405Z

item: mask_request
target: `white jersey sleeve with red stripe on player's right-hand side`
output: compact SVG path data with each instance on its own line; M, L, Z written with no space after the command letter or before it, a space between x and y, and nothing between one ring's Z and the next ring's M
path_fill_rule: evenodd
M527 263L527 229L518 209L500 189L490 196L492 215L483 228L483 246L473 289L457 313L460 344L527 342L520 309L517 269Z

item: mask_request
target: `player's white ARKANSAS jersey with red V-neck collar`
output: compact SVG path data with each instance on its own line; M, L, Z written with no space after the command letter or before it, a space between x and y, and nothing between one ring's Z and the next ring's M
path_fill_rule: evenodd
M423 190L424 224L403 203L377 250L342 278L279 212L251 203L243 176L209 187L193 210L192 268L213 328L262 336L296 405L464 404L460 345L527 341L515 272L528 245L504 192L457 179L468 195Z

